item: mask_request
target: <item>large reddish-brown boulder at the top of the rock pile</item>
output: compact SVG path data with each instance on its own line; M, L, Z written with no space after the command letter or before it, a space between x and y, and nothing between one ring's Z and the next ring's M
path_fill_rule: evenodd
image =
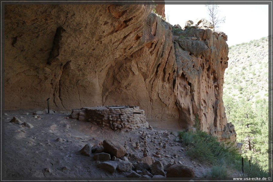
M111 155L116 156L117 158L123 157L126 153L126 149L119 143L112 142L109 140L103 141L104 151L110 153Z

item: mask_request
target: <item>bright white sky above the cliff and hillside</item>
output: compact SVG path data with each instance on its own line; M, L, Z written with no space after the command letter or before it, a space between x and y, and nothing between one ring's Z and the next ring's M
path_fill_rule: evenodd
M220 31L227 35L227 45L236 45L268 36L268 5L219 5ZM207 19L205 5L165 5L166 21L182 28L187 20Z

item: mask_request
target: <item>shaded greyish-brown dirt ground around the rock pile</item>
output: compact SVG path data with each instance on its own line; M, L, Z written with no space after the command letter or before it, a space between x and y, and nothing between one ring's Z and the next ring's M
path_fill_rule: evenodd
M185 146L178 141L178 123L166 123L160 121L148 121L153 129L140 128L130 132L102 129L91 122L79 121L69 118L70 112L56 112L54 114L39 114L41 118L35 119L33 112L37 110L5 111L2 115L2 127L4 127L5 147L2 149L5 179L23 178L119 178L126 177L130 172L118 172L113 174L96 167L96 161L92 157L84 156L80 150L87 144L99 145L103 140L116 141L128 147L129 161L136 163L143 157L143 142L140 149L135 149L133 143L141 139L145 131L147 138L148 156L154 160L160 160L163 165L168 163L181 163L191 167L195 177L204 177L211 166L198 160L191 160L183 149ZM23 114L29 113L29 115ZM22 122L28 122L32 129L9 122L13 117ZM3 122L4 119L4 122ZM167 133L170 133L168 136ZM130 142L130 138L132 142ZM162 144L159 145L160 138ZM151 142L151 139L156 142ZM166 148L163 143L167 142ZM161 158L153 157L159 151ZM240 173L234 172L239 177Z

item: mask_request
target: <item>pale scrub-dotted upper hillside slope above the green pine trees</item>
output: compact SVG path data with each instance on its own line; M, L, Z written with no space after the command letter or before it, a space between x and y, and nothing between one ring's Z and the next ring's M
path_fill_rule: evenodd
M268 99L268 37L229 47L223 95Z

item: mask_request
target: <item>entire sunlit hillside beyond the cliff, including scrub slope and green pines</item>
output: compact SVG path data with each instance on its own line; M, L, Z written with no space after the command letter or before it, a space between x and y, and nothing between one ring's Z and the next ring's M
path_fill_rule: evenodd
M223 101L242 156L268 170L268 37L229 47Z

